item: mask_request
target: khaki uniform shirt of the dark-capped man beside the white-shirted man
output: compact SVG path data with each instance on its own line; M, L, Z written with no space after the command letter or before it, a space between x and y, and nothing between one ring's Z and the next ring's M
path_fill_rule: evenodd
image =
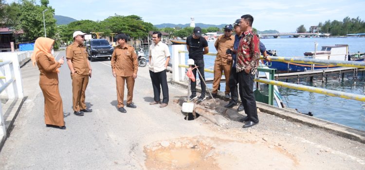
M116 76L128 77L137 74L138 61L134 48L130 45L116 46L111 57L111 69Z

